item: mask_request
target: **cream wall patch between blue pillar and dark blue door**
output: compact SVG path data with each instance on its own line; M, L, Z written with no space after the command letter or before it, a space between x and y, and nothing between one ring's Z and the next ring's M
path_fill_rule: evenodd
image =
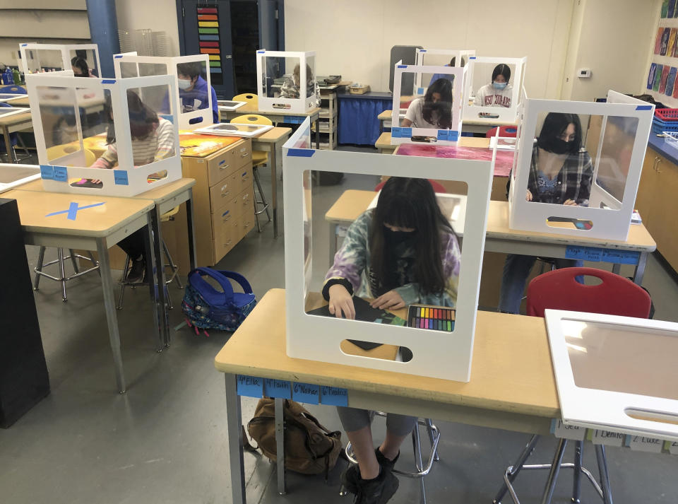
M167 55L179 56L179 25L174 0L115 0L119 30L148 28L167 35Z

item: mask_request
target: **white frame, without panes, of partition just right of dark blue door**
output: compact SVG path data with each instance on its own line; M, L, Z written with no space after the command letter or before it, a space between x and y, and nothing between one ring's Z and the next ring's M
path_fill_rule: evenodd
M299 98L271 98L266 95L266 92L263 88L263 75L265 74L265 69L263 66L264 58L298 58L299 59ZM311 95L308 95L307 90L307 75L306 75L306 66L309 64L308 59L313 58L311 61L311 71L314 75L314 82L316 76L315 61L316 61L316 52L307 51L307 52L295 52L295 51L267 51L266 49L259 49L256 52L256 94L258 95L258 109L261 112L280 112L280 110L287 110L287 112L294 112L296 114L303 114L308 112L311 109L316 108L316 94L315 89L311 90ZM287 69L286 69L287 70Z

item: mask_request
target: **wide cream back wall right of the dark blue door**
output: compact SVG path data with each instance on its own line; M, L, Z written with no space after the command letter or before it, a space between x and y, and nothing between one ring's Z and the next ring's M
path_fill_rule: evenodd
M575 0L285 0L285 49L315 50L316 73L388 91L393 45L528 57L528 96L557 98Z

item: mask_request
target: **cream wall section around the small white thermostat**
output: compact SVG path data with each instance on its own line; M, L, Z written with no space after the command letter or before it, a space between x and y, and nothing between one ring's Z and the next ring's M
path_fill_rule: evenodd
M613 89L643 93L661 0L578 0L573 6L561 98L590 101ZM581 68L591 78L578 78Z

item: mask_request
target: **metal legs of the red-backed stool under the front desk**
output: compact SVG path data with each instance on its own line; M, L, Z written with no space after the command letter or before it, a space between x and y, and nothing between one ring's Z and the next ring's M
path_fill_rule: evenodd
M539 435L533 435L528 441L528 444L525 445L521 455L518 456L516 463L506 468L506 471L504 471L504 484L501 485L499 492L497 492L496 497L492 500L493 504L501 504L501 499L506 496L506 492L509 492L514 503L521 504L521 501L518 500L518 496L516 495L516 491L513 489L513 480L516 479L518 473L523 469L549 469L549 477L546 481L546 486L542 495L542 504L549 504L551 502L560 469L573 469L574 471L571 499L573 504L581 503L582 474L591 482L602 501L605 504L612 504L612 491L609 486L609 476L607 474L607 457L605 457L605 447L603 445L595 445L595 457L600 473L600 484L598 484L598 482L595 481L593 474L582 466L583 441L576 441L574 462L562 462L567 440L561 439L551 464L525 464L525 461L535 450L535 445L537 445L538 440Z

